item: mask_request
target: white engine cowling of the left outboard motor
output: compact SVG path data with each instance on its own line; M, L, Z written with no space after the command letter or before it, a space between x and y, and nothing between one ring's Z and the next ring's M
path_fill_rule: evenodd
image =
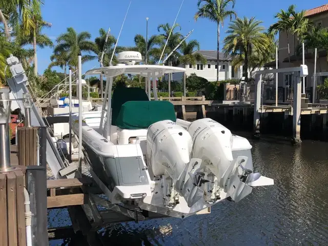
M171 120L158 121L148 128L147 163L154 176L164 175L167 169L174 173L173 179L178 178L190 161L191 149L188 131Z

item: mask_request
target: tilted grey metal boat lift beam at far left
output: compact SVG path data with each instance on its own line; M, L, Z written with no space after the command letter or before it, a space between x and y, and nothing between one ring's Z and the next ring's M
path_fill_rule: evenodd
M13 75L13 78L7 78L8 85L13 93L15 99L23 98L24 93L30 93L27 86L28 78L25 74L25 70L17 57L10 55L7 59L7 64ZM22 114L25 116L25 105L24 101L17 100L17 104L22 111ZM34 104L31 107L31 125L36 127L46 127L46 124L43 118L39 115L38 110ZM61 178L59 171L63 171L65 168L69 168L66 163L61 159L58 150L53 142L53 139L47 131L47 162L53 175L56 178ZM39 163L37 163L39 165Z

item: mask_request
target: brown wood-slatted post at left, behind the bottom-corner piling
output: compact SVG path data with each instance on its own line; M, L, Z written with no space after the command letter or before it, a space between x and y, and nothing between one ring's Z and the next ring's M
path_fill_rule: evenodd
M37 127L19 127L18 165L35 166L37 163Z

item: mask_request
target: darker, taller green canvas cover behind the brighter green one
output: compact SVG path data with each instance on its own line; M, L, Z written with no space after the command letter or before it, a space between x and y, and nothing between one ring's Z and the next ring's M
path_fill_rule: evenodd
M112 125L116 125L121 106L127 101L149 101L148 95L144 89L137 87L117 87L112 97Z

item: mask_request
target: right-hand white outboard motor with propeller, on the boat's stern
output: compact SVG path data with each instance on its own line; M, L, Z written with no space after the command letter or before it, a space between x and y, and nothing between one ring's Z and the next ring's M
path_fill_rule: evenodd
M192 158L202 160L200 168L193 170L194 179L199 179L197 172L210 169L218 181L219 188L235 202L249 195L252 192L251 186L273 185L273 179L244 168L247 156L233 159L233 136L228 128L215 120L204 118L192 122L188 132L193 140ZM207 182L210 178L204 179L205 185L209 186Z

